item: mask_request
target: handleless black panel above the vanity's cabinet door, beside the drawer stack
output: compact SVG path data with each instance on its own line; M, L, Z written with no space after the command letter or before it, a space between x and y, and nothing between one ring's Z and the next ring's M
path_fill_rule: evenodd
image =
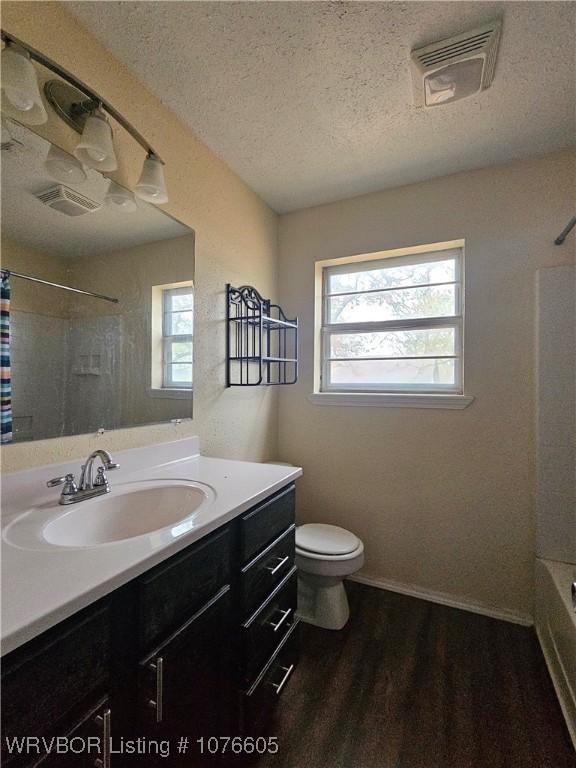
M182 625L230 582L230 557L231 531L224 528L139 579L142 652Z

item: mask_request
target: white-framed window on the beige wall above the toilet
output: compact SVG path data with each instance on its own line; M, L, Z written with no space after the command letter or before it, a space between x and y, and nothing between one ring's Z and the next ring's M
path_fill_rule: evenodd
M418 251L322 267L320 392L462 393L462 248Z

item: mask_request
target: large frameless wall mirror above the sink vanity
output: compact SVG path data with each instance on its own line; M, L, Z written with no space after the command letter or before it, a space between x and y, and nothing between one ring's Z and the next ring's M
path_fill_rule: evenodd
M3 118L3 442L192 417L194 232L69 157Z

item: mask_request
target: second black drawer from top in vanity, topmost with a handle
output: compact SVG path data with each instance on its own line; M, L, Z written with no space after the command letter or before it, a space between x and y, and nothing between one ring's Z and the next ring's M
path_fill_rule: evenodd
M281 534L242 569L242 615L257 610L294 566L296 526Z

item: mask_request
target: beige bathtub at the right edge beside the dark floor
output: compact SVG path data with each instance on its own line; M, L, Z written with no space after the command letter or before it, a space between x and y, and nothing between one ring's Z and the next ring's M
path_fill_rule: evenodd
M576 565L536 560L536 631L576 748Z

